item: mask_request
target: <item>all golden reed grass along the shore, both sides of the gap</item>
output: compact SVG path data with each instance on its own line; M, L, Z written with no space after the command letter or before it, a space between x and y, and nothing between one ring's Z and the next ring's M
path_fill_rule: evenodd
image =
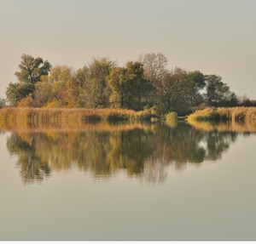
M73 120L78 122L110 121L155 121L159 119L149 110L132 111L121 109L84 109L84 108L17 108L0 109L0 121L58 122ZM166 122L177 122L177 113L166 114ZM256 107L207 107L197 110L185 118L192 121L235 121L256 120Z

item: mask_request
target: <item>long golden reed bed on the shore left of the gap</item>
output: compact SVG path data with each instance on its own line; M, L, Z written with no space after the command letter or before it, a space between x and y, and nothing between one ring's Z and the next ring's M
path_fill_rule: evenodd
M156 118L148 110L132 111L118 109L66 109L66 108L16 108L3 107L0 109L0 120L4 121L39 121L55 122L62 120L76 121L149 121Z

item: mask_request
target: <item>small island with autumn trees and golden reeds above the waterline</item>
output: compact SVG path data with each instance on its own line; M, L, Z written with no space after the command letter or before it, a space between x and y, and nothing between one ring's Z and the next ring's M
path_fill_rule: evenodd
M92 58L79 69L22 54L16 83L0 100L0 120L256 119L256 100L230 91L216 74L166 69L164 54L140 54L125 66Z

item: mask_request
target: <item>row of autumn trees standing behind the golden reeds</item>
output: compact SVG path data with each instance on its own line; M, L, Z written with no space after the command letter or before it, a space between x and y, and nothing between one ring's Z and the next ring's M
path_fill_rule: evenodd
M20 71L15 72L18 81L9 83L6 101L18 107L148 109L180 116L198 107L254 105L247 96L231 92L216 74L166 66L160 53L140 54L125 66L106 57L92 58L77 70L22 54Z

